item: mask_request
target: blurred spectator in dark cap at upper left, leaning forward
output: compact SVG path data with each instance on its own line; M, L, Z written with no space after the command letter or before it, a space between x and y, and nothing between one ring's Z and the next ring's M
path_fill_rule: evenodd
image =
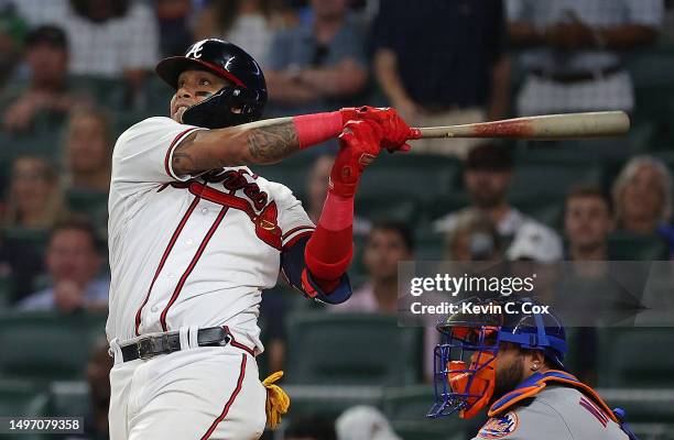
M2 99L9 102L3 106L7 111L2 116L8 131L28 131L37 113L66 114L80 100L68 90L68 43L64 31L52 25L39 26L29 33L25 45L28 88L19 96Z

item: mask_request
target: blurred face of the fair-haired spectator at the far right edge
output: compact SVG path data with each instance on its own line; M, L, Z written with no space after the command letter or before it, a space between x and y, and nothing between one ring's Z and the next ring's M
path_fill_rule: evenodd
M620 201L626 217L654 221L664 202L664 188L657 170L649 165L642 166L624 187Z

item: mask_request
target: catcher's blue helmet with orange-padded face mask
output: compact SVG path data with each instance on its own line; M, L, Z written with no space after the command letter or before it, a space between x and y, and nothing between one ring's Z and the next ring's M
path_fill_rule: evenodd
M461 311L461 304L492 306L486 312ZM507 304L510 304L507 306ZM501 342L526 350L540 350L556 369L564 370L566 337L553 312L537 312L531 298L477 298L458 302L459 312L437 322L442 333L434 354L435 405L428 417L470 418L490 400L496 383L496 356Z

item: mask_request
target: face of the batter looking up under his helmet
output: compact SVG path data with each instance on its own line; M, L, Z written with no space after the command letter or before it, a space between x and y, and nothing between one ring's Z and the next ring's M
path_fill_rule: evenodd
M185 70L178 76L178 89L171 99L171 118L182 122L187 107L210 98L229 82L206 70Z

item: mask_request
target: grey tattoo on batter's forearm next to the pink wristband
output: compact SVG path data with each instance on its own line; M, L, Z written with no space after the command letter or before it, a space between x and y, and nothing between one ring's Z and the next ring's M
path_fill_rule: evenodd
M261 163L278 162L300 148L297 132L292 121L258 127L248 138L248 148Z

